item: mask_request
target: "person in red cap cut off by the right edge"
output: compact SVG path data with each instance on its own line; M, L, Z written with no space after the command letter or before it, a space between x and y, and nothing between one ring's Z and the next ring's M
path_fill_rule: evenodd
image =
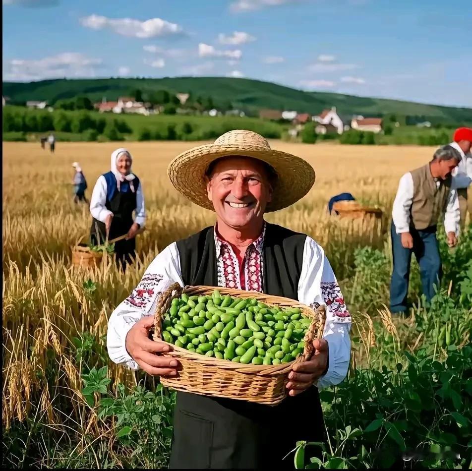
M459 165L452 173L452 184L457 188L459 208L461 212L461 227L464 228L467 215L467 189L472 183L472 128L459 127L454 132L454 142L449 145L454 147L462 157ZM471 210L469 212L472 215Z

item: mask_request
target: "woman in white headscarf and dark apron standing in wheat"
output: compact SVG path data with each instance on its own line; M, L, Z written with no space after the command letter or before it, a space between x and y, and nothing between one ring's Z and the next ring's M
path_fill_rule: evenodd
M126 149L114 151L111 170L98 178L90 201L93 244L105 243L107 235L111 240L126 234L125 239L115 243L117 263L123 270L126 263L134 260L135 236L146 220L142 184L131 173L131 164L132 157Z

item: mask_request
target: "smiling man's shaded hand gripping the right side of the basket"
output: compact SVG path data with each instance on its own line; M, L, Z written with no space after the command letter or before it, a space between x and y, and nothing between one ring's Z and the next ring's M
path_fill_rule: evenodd
M328 342L324 339L313 340L315 353L308 360L298 363L289 373L290 381L287 389L290 389L289 396L296 396L305 389L308 389L325 371L328 364L329 348Z

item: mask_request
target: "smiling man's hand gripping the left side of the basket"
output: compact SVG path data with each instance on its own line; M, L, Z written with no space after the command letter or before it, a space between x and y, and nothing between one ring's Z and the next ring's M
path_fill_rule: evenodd
M178 362L170 356L159 356L171 350L164 342L149 339L149 328L154 323L153 316L145 316L131 327L126 335L126 350L146 373L159 376L175 376Z

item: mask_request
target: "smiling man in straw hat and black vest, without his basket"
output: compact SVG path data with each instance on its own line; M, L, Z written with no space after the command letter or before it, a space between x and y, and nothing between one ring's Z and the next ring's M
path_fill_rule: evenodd
M351 316L323 249L307 235L264 221L265 213L306 195L314 171L259 134L235 130L180 154L168 174L179 192L216 213L216 224L152 261L110 317L110 357L149 374L178 374L177 360L160 355L169 347L149 340L160 294L175 282L324 304L323 338L290 373L289 396L280 405L177 392L171 469L293 469L293 456L283 458L297 440L324 439L318 388L345 378L351 352Z

